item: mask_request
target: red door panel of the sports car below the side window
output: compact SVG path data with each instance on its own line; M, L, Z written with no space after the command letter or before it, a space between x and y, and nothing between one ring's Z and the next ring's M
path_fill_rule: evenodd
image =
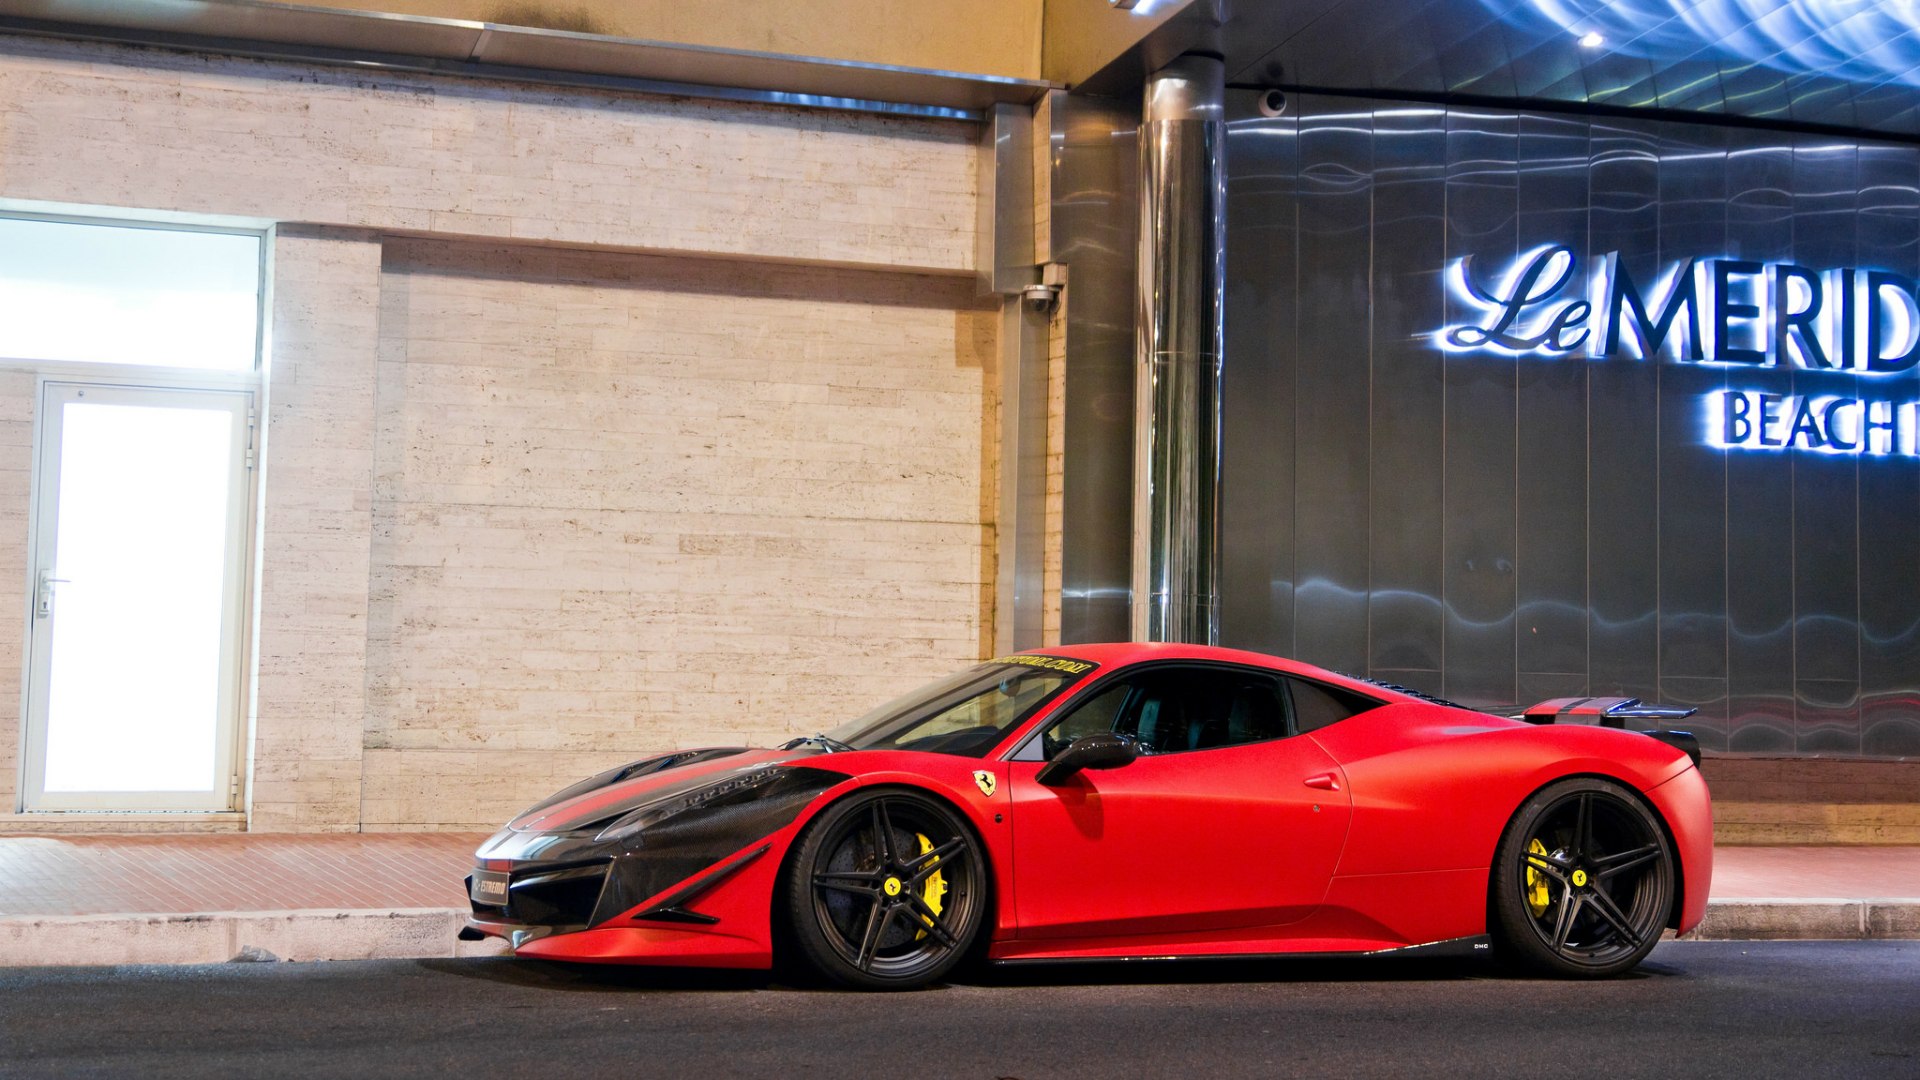
M1308 738L1144 755L1060 788L1010 765L1020 938L1294 922L1346 840L1340 767Z

